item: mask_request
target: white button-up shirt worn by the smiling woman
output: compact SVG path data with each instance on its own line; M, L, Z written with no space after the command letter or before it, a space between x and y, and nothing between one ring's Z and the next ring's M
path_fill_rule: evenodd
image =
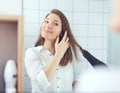
M72 93L75 78L87 69L87 60L80 53L80 62L74 61L67 66L58 66L51 82L47 80L44 69L53 55L43 46L30 48L25 53L25 69L31 79L32 93Z

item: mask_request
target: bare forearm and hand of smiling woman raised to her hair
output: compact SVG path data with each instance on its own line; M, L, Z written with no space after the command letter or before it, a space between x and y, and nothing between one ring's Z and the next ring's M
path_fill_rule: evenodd
M59 37L57 38L55 42L54 58L52 62L50 62L50 64L44 70L48 81L52 80L59 63L68 48L69 48L69 38L67 37L67 31L66 31L61 42L59 42Z

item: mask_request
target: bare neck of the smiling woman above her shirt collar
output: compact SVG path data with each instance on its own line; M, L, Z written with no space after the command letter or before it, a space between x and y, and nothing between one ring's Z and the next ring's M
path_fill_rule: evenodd
M50 41L45 41L43 47L49 50L53 55L55 54L54 43Z

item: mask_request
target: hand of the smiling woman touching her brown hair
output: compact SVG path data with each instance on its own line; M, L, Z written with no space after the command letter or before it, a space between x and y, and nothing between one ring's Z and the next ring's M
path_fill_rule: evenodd
M64 33L62 40L59 42L59 37L55 42L55 55L58 55L60 59L64 56L66 50L69 48L70 42L69 37L67 36L67 31Z

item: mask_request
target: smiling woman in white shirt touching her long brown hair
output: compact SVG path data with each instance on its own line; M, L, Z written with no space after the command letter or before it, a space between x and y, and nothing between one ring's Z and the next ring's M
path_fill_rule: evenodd
M51 10L42 23L35 47L25 54L32 92L73 92L76 76L87 66L81 51L65 15L57 9Z

